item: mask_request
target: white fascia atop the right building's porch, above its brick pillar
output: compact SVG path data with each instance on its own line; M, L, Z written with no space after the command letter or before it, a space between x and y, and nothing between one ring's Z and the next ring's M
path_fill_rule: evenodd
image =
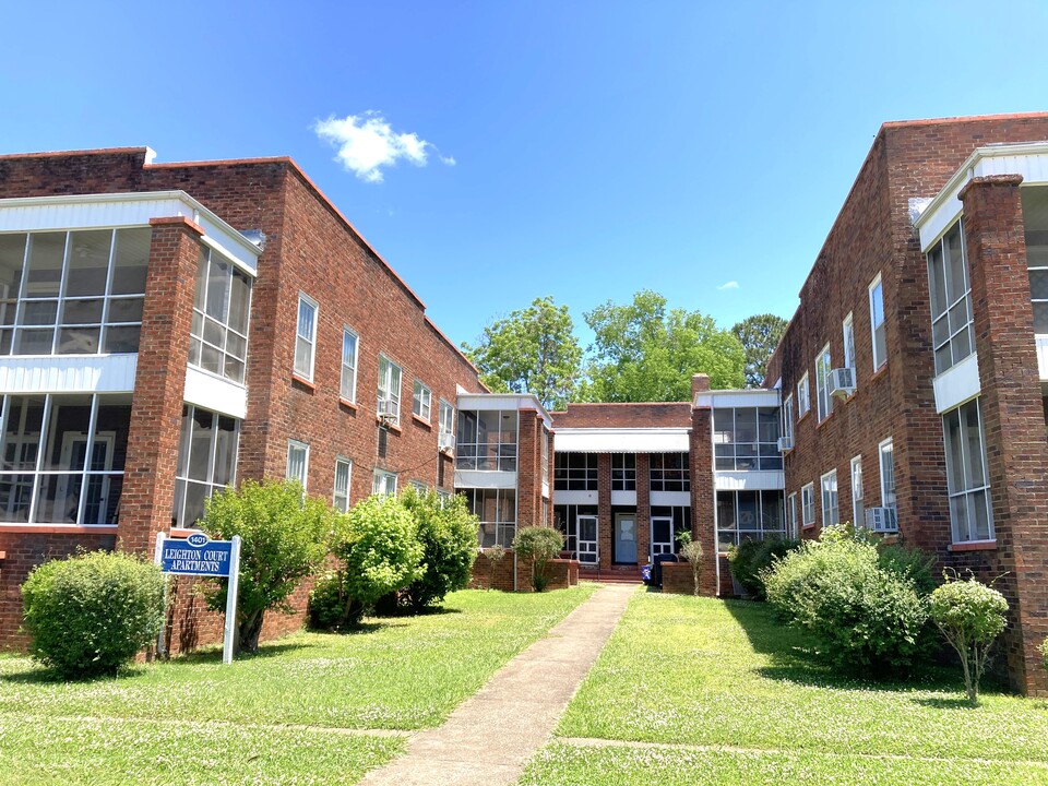
M914 226L927 251L961 215L957 194L967 182L992 175L1022 175L1024 186L1048 183L1048 142L988 145L976 150L921 212Z

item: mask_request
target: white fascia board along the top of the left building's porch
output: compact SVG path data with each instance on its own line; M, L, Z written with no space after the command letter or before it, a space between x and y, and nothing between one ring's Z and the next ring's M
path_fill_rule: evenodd
M0 199L0 233L144 227L151 218L177 216L200 226L204 243L258 275L262 249L184 191Z

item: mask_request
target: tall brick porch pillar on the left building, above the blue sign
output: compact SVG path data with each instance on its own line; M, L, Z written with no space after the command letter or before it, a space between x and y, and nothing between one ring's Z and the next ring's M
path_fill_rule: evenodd
M153 240L117 529L120 548L147 555L152 555L156 533L171 525L193 290L203 235L199 226L182 217L154 218L150 224Z

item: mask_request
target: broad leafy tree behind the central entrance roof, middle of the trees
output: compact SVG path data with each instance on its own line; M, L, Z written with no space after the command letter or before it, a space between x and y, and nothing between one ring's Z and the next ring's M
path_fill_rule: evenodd
M698 311L667 309L658 293L639 291L626 306L609 300L585 318L596 341L581 400L688 401L691 376L700 371L713 388L742 385L739 341Z

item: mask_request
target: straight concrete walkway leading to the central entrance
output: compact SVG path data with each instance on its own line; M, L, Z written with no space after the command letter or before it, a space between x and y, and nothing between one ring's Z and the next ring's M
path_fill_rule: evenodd
M502 667L444 723L419 731L407 753L373 770L366 786L515 784L626 610L636 585L606 586Z

